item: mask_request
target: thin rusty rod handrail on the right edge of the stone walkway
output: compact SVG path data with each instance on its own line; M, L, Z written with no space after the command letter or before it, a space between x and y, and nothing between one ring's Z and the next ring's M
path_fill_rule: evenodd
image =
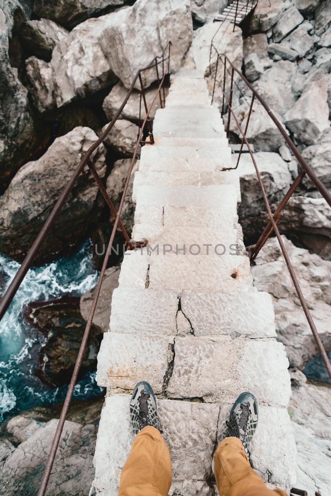
M213 47L215 49L215 47ZM215 49L216 50L216 49ZM323 359L323 362L325 364L325 367L329 373L329 376L331 378L331 363L330 363L330 360L328 358L328 355L327 355L327 352L324 348L324 345L322 343L322 340L319 336L319 333L316 329L316 326L315 326L315 323L314 323L314 320L312 318L312 315L308 309L308 305L306 303L306 300L302 294L302 291L301 291L301 288L300 288L300 285L299 285L299 282L297 280L297 277L295 275L295 272L294 272L294 269L292 267L292 264L291 264L291 261L289 259L289 256L288 256L288 253L287 253L287 250L284 246L284 243L281 239L281 236L280 236L280 233L279 233L279 230L278 230L278 227L277 227L277 223L279 222L279 219L280 219L280 215L281 215L281 210L283 208L283 206L287 203L288 199L290 198L290 196L292 195L292 193L294 192L295 188L301 183L302 181L302 178L305 174L307 174L310 179L312 180L312 182L314 183L314 185L319 189L319 191L321 192L321 194L324 196L324 198L326 199L326 201L328 201L329 205L331 206L331 195L330 193L328 192L328 190L325 188L325 186L323 185L323 183L317 178L316 174L312 171L312 169L309 167L309 165L306 163L306 161L304 160L304 158L302 157L302 155L300 154L300 152L297 150L296 146L294 145L294 143L292 142L292 140L290 139L290 137L287 135L285 129L283 129L283 127L281 126L281 124L277 121L276 117L274 116L274 114L272 113L272 111L269 109L268 105L266 104L266 102L262 99L262 97L257 93L257 91L248 83L248 81L246 80L246 78L241 74L241 72L232 64L232 62L228 59L228 57L223 54L222 56L224 57L224 62L222 61L222 56L221 54L218 53L218 51L216 50L216 53L217 53L217 57L221 60L221 62L225 65L225 63L229 63L232 70L231 70L231 84L230 84L230 94L229 94L229 98L226 97L226 94L225 94L225 88L223 86L223 89L222 89L222 97L223 99L225 99L225 102L227 104L227 107L228 107L228 113L229 115L231 114L237 124L237 127L242 135L242 140L246 143L246 146L247 146L247 149L249 151L249 154L251 156L251 159L253 161L253 164L254 164L254 168L255 168L255 171L256 171L256 175L257 175L257 178L258 178L258 182L259 182L259 185L260 185L260 189L262 191L262 196L263 196L263 200L265 202L265 205L266 205L266 208L267 208L267 212L268 212L268 215L269 215L269 218L270 218L270 221L268 223L268 225L266 226L264 232L262 233L258 243L255 245L255 247L252 248L252 253L254 253L255 251L259 251L263 244L267 241L268 237L270 236L270 234L272 233L272 231L275 231L275 234L276 234L276 238L278 240L278 243L279 243L279 246L280 246L280 249L281 249L281 252L283 254L283 257L285 259L285 263L287 265L287 269L289 271L289 274L291 276L291 279L292 279L292 282L293 282L293 285L295 287L295 290L296 290L296 293L298 295L298 298L299 298L299 301L300 301L300 304L301 304L301 307L306 315L306 318L307 318L307 322L309 324L309 327L312 331L312 334L314 336L314 339L315 339L315 342L317 344L317 347L321 353L321 356L322 356L322 359ZM260 171L258 169L258 166L257 166L257 163L256 163L256 160L254 158L254 154L252 152L252 149L251 149L251 146L247 140L247 137L246 137L246 132L247 132L247 125L245 126L245 130L243 130L241 128L241 125L239 124L239 121L233 111L233 109L231 108L231 98L232 98L232 83L233 83L233 75L234 75L234 71L237 72L239 74L239 76L243 79L243 81L248 85L248 87L252 90L252 93L253 93L253 96L255 98L257 98L260 103L263 105L263 107L265 108L265 110L267 111L267 113L269 114L270 118L274 121L274 123L276 124L276 126L278 127L280 133L282 134L282 136L284 137L285 141L287 142L288 146L290 147L291 151L293 152L293 155L296 157L299 165L301 166L302 168L302 171L300 172L300 174L298 175L298 177L296 178L296 180L294 181L293 185L290 187L290 189L288 190L288 192L286 193L286 195L284 196L284 198L282 199L282 201L280 202L276 212L273 214L272 211L271 211L271 207L270 207L270 204L269 204L269 200L268 200L268 197L267 197L267 193L265 191L265 188L264 188L264 185L263 185L263 182L262 182L262 178L261 178L261 175L260 175ZM225 72L224 72L225 74ZM252 107L253 107L253 103L251 103L251 107L250 107L250 110L252 110ZM228 124L229 124L229 118L228 118ZM227 125L227 129L228 129L228 125ZM238 166L238 162L237 162L237 165L235 168L237 168ZM231 169L235 169L235 168L231 168ZM255 250L256 248L256 250ZM257 254L257 253L256 253ZM252 255L253 256L253 255ZM256 255L255 255L256 256Z

